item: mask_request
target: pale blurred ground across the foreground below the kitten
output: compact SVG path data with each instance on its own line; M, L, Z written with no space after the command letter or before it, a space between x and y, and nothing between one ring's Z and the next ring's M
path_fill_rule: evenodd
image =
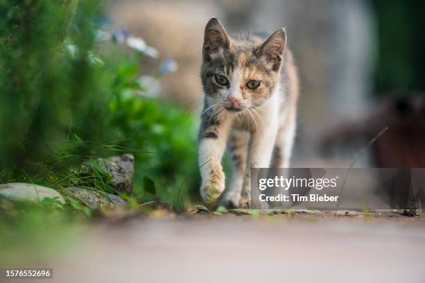
M158 213L69 247L45 282L425 282L424 216Z

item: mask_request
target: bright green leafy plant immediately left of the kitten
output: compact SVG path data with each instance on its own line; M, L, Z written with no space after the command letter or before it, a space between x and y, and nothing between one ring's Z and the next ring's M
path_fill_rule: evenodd
M137 76L137 65L122 65L114 82L109 110L111 126L119 132L115 144L142 149L135 152L134 194L144 195L144 178L149 176L158 187L157 196L173 204L183 182L192 190L199 182L197 123L187 110L135 95L140 89Z

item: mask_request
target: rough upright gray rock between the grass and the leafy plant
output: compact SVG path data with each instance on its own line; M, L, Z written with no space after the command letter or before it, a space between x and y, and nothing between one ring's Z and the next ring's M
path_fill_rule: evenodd
M134 155L125 153L121 156L99 158L97 162L99 162L101 169L111 176L111 180L108 182L110 187L126 194L133 191ZM90 168L85 164L83 164L83 168L90 171Z

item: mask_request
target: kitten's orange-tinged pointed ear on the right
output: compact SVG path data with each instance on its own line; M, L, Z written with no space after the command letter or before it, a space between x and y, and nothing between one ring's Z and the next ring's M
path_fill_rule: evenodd
M264 56L267 62L272 63L272 69L278 71L281 67L283 51L286 46L286 32L284 28L275 31L258 48L258 55Z

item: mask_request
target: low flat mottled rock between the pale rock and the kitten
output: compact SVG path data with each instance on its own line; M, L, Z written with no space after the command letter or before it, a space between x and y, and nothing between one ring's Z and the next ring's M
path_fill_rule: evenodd
M127 205L127 202L119 196L108 193L100 193L99 191L94 191L92 189L67 187L66 191L92 208L124 207Z

